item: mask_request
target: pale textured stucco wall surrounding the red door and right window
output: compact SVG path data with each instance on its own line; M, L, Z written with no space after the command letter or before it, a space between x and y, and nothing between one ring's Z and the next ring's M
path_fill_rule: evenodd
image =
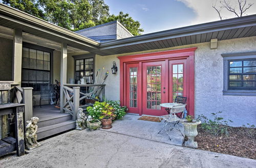
M198 47L195 51L195 116L203 114L210 118L211 113L222 111L221 116L225 120L233 121L229 124L231 126L242 126L247 123L256 125L256 96L223 95L223 57L221 56L222 53L256 51L255 44L256 37L248 37L219 41L217 49L210 49L210 43L207 42L105 57L96 55L96 70L102 69L102 67L111 70L112 62L117 63L118 73L114 75L110 72L105 82L105 94L107 99L119 100L120 65L118 56Z

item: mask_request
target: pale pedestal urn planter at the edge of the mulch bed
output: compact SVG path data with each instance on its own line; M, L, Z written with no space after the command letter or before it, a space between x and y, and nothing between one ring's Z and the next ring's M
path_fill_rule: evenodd
M185 141L184 146L190 148L197 148L198 144L194 141L197 136L197 125L201 124L200 120L193 120L193 122L187 122L186 120L181 121L184 125L184 134L187 136L188 141Z

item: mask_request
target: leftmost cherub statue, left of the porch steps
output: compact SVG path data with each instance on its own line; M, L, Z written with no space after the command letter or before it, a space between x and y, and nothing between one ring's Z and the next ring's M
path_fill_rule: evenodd
M36 125L39 119L37 117L32 117L30 121L26 122L26 133L25 133L25 141L26 141L26 148L28 150L34 149L39 147L40 144L37 142L37 128Z

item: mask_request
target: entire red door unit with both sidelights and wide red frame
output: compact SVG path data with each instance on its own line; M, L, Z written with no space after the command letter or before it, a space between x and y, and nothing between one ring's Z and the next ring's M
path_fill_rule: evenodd
M185 48L127 55L120 59L120 100L129 113L161 116L161 103L187 97L186 109L194 115L194 51Z

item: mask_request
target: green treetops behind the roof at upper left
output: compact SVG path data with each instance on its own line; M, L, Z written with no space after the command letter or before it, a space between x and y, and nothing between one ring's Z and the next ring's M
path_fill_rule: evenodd
M3 0L4 4L71 31L118 20L133 35L144 30L129 14L110 15L104 0Z

